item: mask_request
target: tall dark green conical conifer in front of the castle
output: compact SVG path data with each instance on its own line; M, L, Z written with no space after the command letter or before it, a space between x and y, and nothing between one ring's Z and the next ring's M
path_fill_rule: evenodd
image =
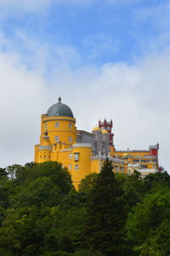
M121 255L122 193L107 159L89 194L84 237L88 247L108 256Z

